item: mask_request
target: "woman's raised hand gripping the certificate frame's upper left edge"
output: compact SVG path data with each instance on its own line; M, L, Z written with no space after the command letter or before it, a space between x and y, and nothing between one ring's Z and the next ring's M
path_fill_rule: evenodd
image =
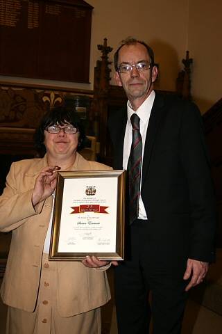
M48 166L42 169L40 175L35 180L32 202L33 207L49 197L56 188L58 166Z

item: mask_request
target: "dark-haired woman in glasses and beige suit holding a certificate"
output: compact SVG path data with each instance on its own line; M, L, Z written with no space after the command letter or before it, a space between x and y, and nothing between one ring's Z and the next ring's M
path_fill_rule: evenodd
M100 306L110 299L108 262L96 257L83 263L48 261L56 172L111 169L77 152L84 140L75 114L56 108L46 113L35 134L38 147L46 150L44 158L10 168L0 197L0 230L12 231L1 286L9 306L6 333L101 333Z

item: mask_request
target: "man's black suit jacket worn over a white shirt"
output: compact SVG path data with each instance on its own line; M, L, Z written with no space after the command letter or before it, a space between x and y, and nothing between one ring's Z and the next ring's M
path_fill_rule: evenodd
M127 110L108 122L114 168L122 169ZM184 270L187 258L212 262L216 225L210 162L195 104L156 93L146 134L142 200L153 264ZM126 222L128 223L128 222Z

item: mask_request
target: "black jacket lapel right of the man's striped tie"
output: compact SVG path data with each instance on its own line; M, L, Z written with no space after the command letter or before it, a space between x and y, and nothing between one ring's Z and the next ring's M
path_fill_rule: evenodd
M153 108L151 110L151 117L148 122L148 128L146 132L146 141L144 148L143 170L142 170L142 184L148 173L148 166L151 160L151 154L153 151L153 145L155 143L155 137L157 135L157 129L160 125L160 120L164 112L164 98L162 95L155 94L155 100L153 102Z

